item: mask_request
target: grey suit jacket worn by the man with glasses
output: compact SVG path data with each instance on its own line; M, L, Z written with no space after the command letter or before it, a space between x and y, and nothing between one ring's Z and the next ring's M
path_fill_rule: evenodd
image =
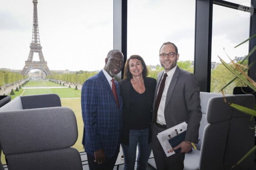
M163 74L164 71L159 72L157 76L153 106L155 106ZM155 113L154 109L155 107L153 114ZM202 118L199 85L194 74L182 70L178 66L168 87L164 115L167 128L184 121L188 123L185 140L198 143L198 131Z

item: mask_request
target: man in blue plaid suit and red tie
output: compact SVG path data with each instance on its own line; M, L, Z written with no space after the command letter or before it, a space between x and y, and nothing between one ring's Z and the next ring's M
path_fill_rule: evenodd
M122 70L123 65L122 52L109 51L104 69L86 80L82 87L82 143L90 170L113 170L117 160L122 133L122 99L120 87L114 80L117 103L112 91L112 79Z

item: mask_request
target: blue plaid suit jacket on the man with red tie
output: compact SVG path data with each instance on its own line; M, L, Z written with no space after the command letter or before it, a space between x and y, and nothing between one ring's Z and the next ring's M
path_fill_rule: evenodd
M120 87L115 81L120 108L103 71L84 82L81 94L84 123L84 150L94 156L94 151L104 149L106 157L112 157L120 147L122 132L122 99Z

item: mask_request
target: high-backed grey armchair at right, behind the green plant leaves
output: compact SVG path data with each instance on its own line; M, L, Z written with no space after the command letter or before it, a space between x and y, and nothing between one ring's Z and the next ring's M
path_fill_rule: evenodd
M198 150L185 154L184 170L230 170L253 146L255 120L225 104L220 94L200 93L203 117ZM227 95L228 102L254 108L253 95ZM251 170L254 154L233 170Z

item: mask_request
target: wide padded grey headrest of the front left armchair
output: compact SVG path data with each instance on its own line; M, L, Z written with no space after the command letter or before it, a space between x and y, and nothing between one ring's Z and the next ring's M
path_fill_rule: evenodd
M74 112L66 107L0 113L0 140L5 155L70 147L78 130Z

